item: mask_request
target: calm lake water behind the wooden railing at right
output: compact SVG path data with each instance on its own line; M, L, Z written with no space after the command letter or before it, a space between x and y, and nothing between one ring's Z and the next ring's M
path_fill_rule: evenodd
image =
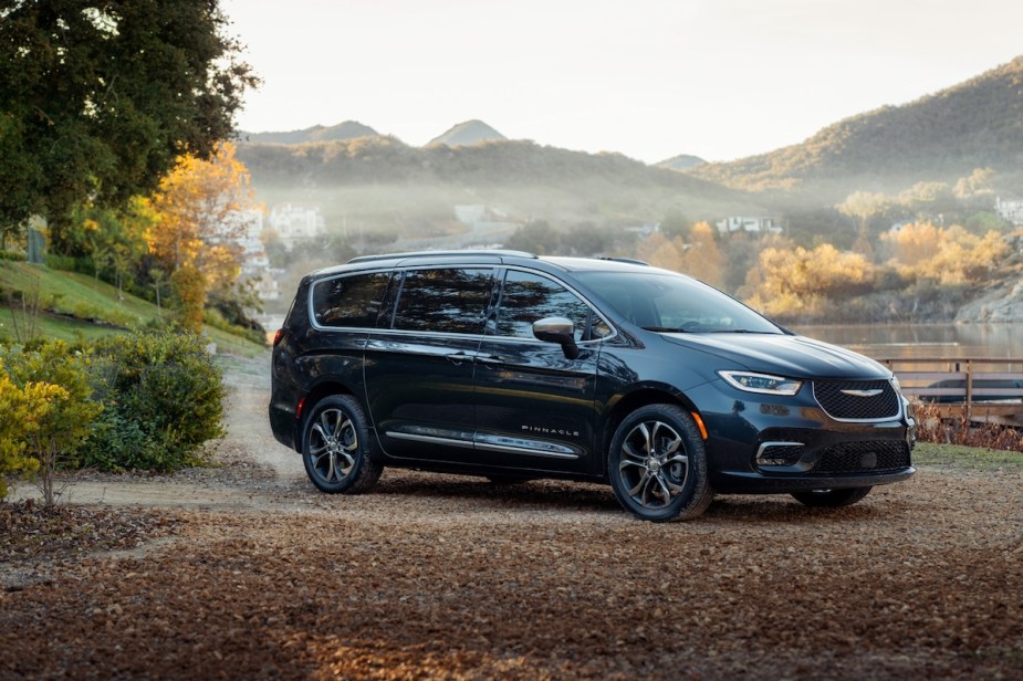
M842 324L791 331L875 359L1023 358L1023 324Z

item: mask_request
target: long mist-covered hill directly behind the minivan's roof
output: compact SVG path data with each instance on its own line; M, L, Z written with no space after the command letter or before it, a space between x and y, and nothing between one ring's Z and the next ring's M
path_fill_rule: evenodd
M459 205L499 209L501 222L543 220L626 228L668 213L690 220L760 214L742 191L647 166L620 154L585 154L525 140L411 147L394 137L282 146L242 144L238 158L269 206L316 205L328 233L359 239L457 237ZM503 237L502 237L503 238ZM500 243L491 235L484 243ZM439 243L403 242L429 248ZM446 242L445 248L480 245Z

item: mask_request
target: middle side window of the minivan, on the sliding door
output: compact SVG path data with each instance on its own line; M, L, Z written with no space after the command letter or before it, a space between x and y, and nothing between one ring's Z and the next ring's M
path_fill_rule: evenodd
M395 312L395 328L479 334L493 289L492 270L410 270Z

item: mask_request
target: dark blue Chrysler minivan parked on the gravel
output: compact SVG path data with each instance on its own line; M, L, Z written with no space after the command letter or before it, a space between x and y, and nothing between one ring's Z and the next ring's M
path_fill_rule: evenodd
M714 493L844 506L914 473L888 369L638 262L356 258L302 280L272 362L274 436L324 492L387 465L565 478L669 521Z

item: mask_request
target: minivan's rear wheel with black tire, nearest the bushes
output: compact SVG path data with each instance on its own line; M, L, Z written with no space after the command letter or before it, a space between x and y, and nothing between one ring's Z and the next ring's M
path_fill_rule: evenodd
M321 492L357 494L379 480L384 465L355 398L332 395L316 402L302 431L302 462Z

